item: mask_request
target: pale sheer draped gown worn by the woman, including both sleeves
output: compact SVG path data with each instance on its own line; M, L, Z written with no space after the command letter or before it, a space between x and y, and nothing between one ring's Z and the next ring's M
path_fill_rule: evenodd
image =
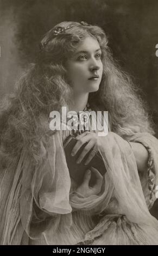
M158 245L158 221L148 210L156 199L157 139L148 133L131 138L150 149L152 174L139 176L127 141L113 132L98 137L107 172L100 193L85 198L69 177L63 148L69 133L57 131L47 147L41 145L40 164L33 164L25 147L5 167L1 164L1 244Z

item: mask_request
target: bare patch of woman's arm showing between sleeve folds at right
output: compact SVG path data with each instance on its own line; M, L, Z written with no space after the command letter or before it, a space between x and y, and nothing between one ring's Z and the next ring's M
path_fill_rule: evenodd
M138 172L143 173L148 169L148 150L138 142L130 142L135 155Z

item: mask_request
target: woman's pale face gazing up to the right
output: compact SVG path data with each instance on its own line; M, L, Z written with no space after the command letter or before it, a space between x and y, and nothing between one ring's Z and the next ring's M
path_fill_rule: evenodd
M66 62L68 79L75 93L91 93L102 80L102 51L97 39L86 37Z

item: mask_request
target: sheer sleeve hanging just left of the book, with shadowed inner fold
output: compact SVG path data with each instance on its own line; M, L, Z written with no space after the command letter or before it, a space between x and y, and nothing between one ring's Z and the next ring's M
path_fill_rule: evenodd
M44 160L34 168L30 167L29 159L25 159L23 165L21 220L32 239L37 239L50 221L55 231L61 216L68 216L72 211L69 204L71 180L60 132L49 137L43 154Z

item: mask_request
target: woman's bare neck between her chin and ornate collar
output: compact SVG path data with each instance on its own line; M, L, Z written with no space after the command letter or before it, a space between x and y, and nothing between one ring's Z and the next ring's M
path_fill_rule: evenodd
M74 94L73 111L83 111L87 105L89 99L89 93Z

